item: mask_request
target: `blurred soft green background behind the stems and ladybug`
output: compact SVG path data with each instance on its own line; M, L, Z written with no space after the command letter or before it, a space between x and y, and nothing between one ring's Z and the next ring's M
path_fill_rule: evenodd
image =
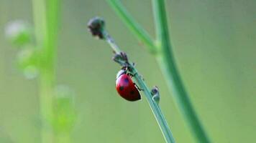
M151 1L123 1L154 35ZM184 84L213 142L255 142L256 1L167 0L171 41ZM160 88L160 107L176 142L193 142L155 59L129 32L106 1L63 0L57 80L76 92L73 142L164 142L145 99L126 102L115 90L119 66L111 49L88 33L102 16L116 43L127 51L147 84ZM4 36L9 21L33 24L32 1L0 1L0 142L40 142L37 80L17 69L15 49Z

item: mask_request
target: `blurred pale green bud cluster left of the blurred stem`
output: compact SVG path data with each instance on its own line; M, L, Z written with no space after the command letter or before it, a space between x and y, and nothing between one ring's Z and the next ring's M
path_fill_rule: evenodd
M19 47L17 66L22 70L24 77L34 79L39 74L39 54L32 39L32 26L24 21L12 21L5 29L6 37L15 46Z

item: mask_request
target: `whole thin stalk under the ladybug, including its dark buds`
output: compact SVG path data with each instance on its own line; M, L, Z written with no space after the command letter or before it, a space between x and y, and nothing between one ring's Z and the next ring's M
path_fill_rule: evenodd
M175 141L173 138L173 134L170 131L168 123L166 122L165 117L163 116L158 104L159 92L157 87L153 87L153 89L150 91L145 81L142 79L142 76L140 76L137 69L135 69L134 63L129 62L127 54L119 49L119 46L116 45L114 39L112 39L111 36L106 32L106 30L104 29L104 24L105 22L103 19L95 17L88 22L88 29L89 31L91 31L91 34L93 36L96 36L99 39L106 40L114 51L113 60L120 64L122 67L127 67L129 73L134 75L134 80L137 82L137 85L143 89L142 91L147 98L147 102L149 102L150 104L152 113L155 115L155 119L157 120L163 136L165 137L165 141L168 143L174 143Z

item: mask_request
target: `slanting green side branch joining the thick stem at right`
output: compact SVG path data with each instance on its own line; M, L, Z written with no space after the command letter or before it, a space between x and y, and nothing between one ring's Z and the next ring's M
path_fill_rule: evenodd
M109 5L116 11L117 14L121 17L125 24L127 24L128 28L134 32L138 39L146 44L146 47L150 51L150 53L155 54L156 48L154 41L150 37L150 35L145 31L145 29L140 26L132 16L127 12L124 6L120 3L119 0L108 0Z

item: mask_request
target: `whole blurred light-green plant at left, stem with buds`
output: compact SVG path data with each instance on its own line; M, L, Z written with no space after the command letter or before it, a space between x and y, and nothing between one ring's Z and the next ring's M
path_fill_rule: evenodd
M76 119L73 93L68 87L55 88L58 2L33 1L35 36L31 26L24 21L14 21L6 26L6 37L20 47L17 55L19 69L27 79L40 75L42 143L62 142L60 137L64 136L66 142L70 142L70 131Z

